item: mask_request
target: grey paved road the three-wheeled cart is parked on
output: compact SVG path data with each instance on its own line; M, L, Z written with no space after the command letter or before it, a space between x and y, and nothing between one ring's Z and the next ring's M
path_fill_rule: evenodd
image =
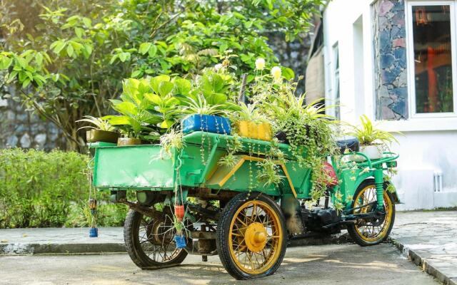
M398 253L391 244L355 244L288 248L273 276L236 281L219 257L159 271L136 268L126 254L0 257L0 284L438 284Z

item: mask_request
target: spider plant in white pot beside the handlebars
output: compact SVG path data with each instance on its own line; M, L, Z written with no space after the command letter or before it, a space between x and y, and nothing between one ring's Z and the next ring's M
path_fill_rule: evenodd
M360 152L366 155L370 160L376 160L382 157L383 151L388 148L388 144L397 142L398 140L385 130L376 128L366 115L361 115L360 125L350 125L351 132L360 142ZM353 155L355 161L363 161L365 157L361 155Z

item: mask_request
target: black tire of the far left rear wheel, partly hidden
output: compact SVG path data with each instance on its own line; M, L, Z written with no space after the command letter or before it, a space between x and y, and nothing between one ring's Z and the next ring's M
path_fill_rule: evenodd
M181 249L181 252L170 261L158 262L149 258L148 255L141 248L139 242L139 227L143 214L136 212L133 209L129 211L124 224L124 242L126 244L127 253L134 264L141 269L161 269L169 266L176 266L181 264L187 256L187 252Z

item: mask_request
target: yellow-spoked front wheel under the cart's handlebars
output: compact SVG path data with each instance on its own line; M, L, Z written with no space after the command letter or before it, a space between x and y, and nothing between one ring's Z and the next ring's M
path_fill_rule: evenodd
M390 234L395 220L395 204L390 193L383 192L383 211L376 217L358 219L356 224L348 225L348 234L361 246L379 244ZM376 209L376 185L374 180L364 181L354 193L352 208L358 208L353 214L367 214Z

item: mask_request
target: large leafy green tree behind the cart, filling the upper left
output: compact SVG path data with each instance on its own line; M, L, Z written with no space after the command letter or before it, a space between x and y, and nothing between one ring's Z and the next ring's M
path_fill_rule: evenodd
M103 115L121 80L186 78L231 50L238 74L258 57L277 61L266 32L286 41L308 31L323 0L4 0L0 69L30 110L61 129L69 150L84 140L75 121ZM39 16L34 16L39 15ZM291 73L293 74L293 73Z

